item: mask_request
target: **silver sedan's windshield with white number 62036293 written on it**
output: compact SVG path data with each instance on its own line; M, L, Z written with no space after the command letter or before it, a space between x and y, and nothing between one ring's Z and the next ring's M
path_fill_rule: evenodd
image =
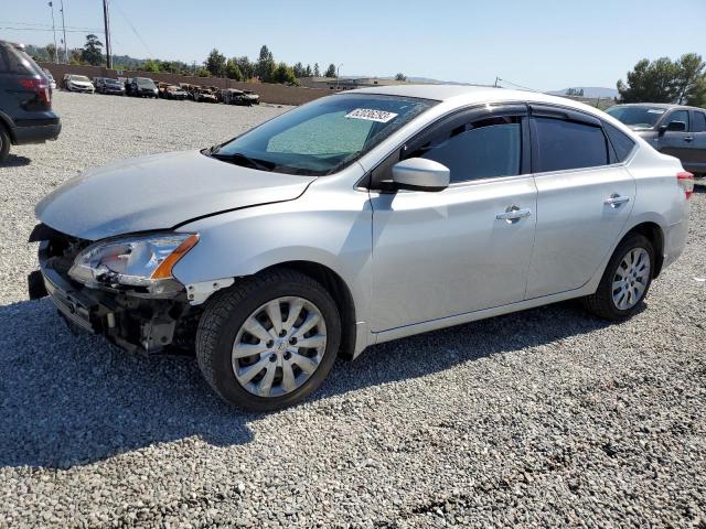
M394 96L341 95L317 99L267 121L207 154L280 173L334 173L435 105Z

